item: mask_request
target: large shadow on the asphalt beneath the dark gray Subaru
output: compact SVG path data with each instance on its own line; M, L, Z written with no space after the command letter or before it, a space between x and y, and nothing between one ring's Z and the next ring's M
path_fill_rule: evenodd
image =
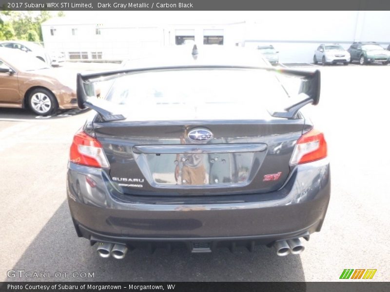
M11 267L10 267L11 268ZM78 238L68 204L64 201L13 270L29 272L85 272L94 278L7 278L6 281L305 281L300 256L276 256L274 249L257 246L233 254L219 249L211 254L191 254L174 249L129 252L125 259L105 259L96 247Z

